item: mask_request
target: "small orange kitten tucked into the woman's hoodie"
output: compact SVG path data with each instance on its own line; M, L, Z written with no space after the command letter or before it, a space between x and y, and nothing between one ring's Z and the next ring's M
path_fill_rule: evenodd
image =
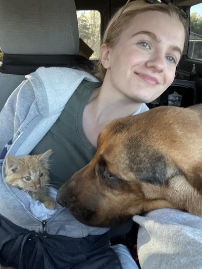
M5 165L5 182L27 191L47 208L55 209L56 202L48 196L48 158L51 154L52 150L49 149L38 155L9 155Z

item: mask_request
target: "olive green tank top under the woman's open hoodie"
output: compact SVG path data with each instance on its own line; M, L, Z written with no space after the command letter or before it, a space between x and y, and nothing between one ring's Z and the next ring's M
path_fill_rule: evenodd
M50 183L56 188L88 164L95 154L96 148L84 134L82 118L93 90L99 86L99 82L83 80L66 103L58 120L30 153L53 150L49 172Z

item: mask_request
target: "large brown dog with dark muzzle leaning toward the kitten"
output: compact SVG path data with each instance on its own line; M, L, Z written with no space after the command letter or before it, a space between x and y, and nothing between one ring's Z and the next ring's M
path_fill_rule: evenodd
M163 207L202 216L202 104L114 120L97 145L57 195L80 222L114 226Z

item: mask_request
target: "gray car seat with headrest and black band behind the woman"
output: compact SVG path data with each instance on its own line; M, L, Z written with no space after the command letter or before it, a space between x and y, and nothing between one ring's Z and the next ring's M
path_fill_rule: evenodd
M0 0L0 111L24 75L40 66L74 66L79 50L74 0Z

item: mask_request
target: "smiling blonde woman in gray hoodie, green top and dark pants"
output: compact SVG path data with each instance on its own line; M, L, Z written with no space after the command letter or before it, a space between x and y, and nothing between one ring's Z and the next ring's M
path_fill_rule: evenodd
M112 18L100 47L102 83L79 70L39 68L13 92L0 115L2 166L8 154L52 148L51 184L59 188L91 160L97 137L110 121L148 110L145 103L169 87L185 35L178 9L127 3ZM59 205L47 210L6 185L4 169L0 180L2 265L135 268L127 249L110 248L109 228L80 224Z

